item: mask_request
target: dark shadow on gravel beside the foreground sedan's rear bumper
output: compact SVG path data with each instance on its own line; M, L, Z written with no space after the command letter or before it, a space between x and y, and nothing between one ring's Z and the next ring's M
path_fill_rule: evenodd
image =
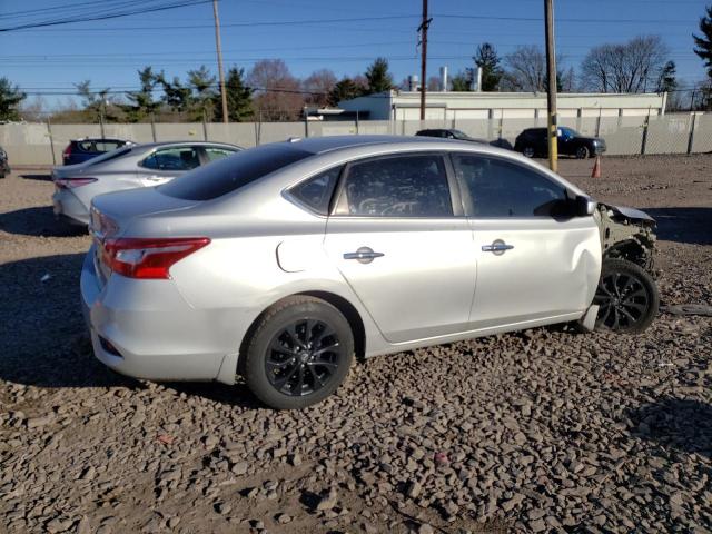
M0 265L0 379L39 387L144 387L99 363L79 305L83 254ZM50 278L41 281L44 275Z

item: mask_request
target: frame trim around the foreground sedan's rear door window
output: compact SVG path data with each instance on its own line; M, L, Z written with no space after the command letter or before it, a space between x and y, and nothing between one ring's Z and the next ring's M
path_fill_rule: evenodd
M445 169L445 177L447 180L447 188L449 190L449 199L451 207L453 210L452 215L447 216L437 216L437 217L376 217L372 215L354 215L348 212L348 200L346 198L346 180L348 179L348 175L350 172L350 168L353 165L359 165L368 161L383 160L383 159L394 159L394 158L405 158L405 157L417 157L417 156L436 156L441 158L443 161L443 167ZM459 187L456 182L452 164L449 162L449 158L447 156L447 151L443 150L417 150L417 151L404 151L404 152L388 152L388 154L379 154L376 156L366 156L358 159L353 159L344 166L342 170L342 175L339 176L339 180L334 190L334 197L332 198L332 209L329 211L329 217L343 217L348 219L374 219L374 220L423 220L423 219L454 219L458 217L464 217L464 209L462 197L459 195Z

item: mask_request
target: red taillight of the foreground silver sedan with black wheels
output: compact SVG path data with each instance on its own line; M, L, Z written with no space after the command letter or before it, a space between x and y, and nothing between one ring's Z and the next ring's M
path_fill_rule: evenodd
M168 279L174 264L209 243L207 237L107 239L102 261L129 278Z

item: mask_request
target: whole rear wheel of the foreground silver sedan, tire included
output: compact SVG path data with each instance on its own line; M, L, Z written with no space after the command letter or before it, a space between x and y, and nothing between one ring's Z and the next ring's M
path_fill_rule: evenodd
M273 408L299 409L325 399L346 379L354 334L330 304L289 297L263 314L245 358L245 380L257 398Z

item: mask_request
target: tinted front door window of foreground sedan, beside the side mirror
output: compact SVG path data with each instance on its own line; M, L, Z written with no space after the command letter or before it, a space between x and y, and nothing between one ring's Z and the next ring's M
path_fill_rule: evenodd
M536 171L482 156L455 155L471 217L552 217L563 215L566 189Z

